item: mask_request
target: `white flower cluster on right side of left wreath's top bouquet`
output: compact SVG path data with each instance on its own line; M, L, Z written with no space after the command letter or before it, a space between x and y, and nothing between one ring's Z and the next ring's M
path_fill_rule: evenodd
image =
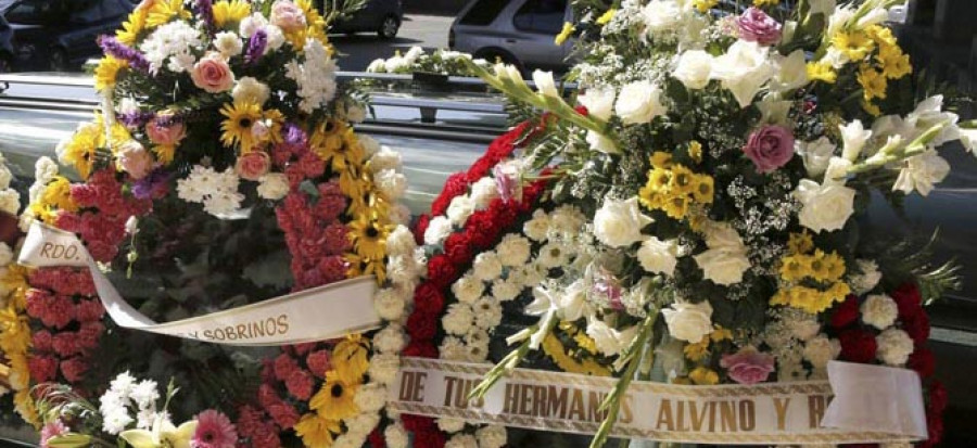
M307 114L325 107L335 97L335 61L333 61L322 42L306 39L305 62L292 60L286 64L286 76L299 85L299 107Z

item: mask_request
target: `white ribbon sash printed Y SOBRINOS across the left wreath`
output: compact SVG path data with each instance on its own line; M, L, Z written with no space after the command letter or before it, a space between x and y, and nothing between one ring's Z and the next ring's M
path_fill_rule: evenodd
M376 329L372 276L271 298L225 311L156 323L126 303L74 233L34 222L17 261L24 266L87 267L99 298L119 327L190 340L241 346L323 341Z

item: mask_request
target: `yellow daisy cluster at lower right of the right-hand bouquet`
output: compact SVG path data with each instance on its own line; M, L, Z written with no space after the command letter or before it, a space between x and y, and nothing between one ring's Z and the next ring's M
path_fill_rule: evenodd
M841 281L845 276L845 260L838 253L825 254L814 248L807 232L790 235L788 255L781 259L781 279L787 284L771 298L771 305L786 305L819 313L832 304L841 302L851 293L851 287ZM801 284L812 280L826 289Z

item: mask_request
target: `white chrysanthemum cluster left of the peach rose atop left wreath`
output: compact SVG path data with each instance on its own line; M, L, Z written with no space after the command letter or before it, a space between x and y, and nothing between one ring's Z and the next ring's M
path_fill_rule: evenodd
M203 44L200 30L183 21L174 21L160 26L145 38L139 49L145 53L153 73L163 68L182 73L193 68L196 56L192 50Z

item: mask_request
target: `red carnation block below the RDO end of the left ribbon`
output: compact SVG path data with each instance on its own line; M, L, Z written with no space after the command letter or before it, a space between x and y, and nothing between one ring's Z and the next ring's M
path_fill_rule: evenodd
M28 282L33 287L27 292L27 315L40 327L27 357L30 379L77 386L105 332L105 309L91 276L75 268L45 268L31 273Z

